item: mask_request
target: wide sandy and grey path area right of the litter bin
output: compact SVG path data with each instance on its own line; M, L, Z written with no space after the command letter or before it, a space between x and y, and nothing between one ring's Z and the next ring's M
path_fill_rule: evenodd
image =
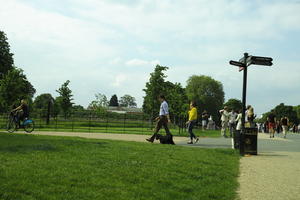
M300 135L287 138L260 133L258 155L241 158L241 200L300 199Z

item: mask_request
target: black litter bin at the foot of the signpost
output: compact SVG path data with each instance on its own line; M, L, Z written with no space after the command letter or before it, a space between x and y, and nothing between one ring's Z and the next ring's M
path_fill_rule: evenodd
M257 128L245 128L244 137L244 153L257 155Z

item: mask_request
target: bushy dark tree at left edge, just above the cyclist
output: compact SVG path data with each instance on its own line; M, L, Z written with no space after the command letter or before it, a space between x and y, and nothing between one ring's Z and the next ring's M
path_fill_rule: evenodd
M20 104L21 99L31 102L35 92L23 70L13 68L0 80L0 108L7 111L10 106Z

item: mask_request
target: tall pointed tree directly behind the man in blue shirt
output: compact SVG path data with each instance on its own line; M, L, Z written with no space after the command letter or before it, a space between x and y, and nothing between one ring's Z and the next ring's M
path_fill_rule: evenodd
M165 78L164 74L168 67L156 65L154 72L150 74L150 79L146 83L146 88L143 89L145 92L143 111L152 117L158 115L159 112L159 101L158 96L164 93Z

